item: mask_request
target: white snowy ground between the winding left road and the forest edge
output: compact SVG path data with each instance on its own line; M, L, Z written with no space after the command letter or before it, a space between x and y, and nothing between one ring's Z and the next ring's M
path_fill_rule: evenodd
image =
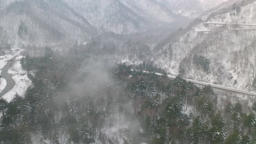
M22 69L20 61L16 61L8 70L9 74L14 74L12 77L15 81L15 86L7 94L3 96L8 102L11 101L16 94L23 97L27 88L31 85L31 80L28 78L26 71Z

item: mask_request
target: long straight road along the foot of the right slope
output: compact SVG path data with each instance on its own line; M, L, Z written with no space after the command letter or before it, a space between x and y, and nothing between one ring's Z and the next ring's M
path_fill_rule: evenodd
M151 73L149 71L143 71L144 73ZM160 73L155 73L156 75L162 75ZM169 78L171 79L175 79L176 76L173 76L173 75L167 75ZM201 81L195 81L195 80L190 80L190 79L184 79L186 80L187 82L192 82L192 83L195 83L195 84L198 84L198 85L203 85L203 86L211 86L211 87L214 87L214 88L218 88L218 89L223 89L223 90L226 90L226 91L230 91L230 92L235 92L235 93L240 93L240 94L246 94L246 95L252 95L252 96L256 96L256 93L254 92L247 92L247 91L242 91L240 89L236 89L236 88L230 88L230 87L224 87L224 86L220 86L220 85L214 85L212 83L207 83L207 82L201 82Z

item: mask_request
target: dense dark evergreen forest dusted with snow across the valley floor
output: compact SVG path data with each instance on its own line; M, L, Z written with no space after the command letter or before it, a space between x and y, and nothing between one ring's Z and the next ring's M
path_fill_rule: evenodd
M239 103L218 109L210 86L143 73L165 73L150 62L84 58L47 49L43 57L21 60L33 85L24 98L0 100L1 143L32 143L36 135L54 144L256 142L254 113Z

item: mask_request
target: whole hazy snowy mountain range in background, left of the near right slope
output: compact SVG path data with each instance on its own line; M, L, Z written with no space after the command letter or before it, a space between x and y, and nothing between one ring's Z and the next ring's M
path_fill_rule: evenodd
M160 26L171 27L170 24L193 18L207 7L211 8L220 2L0 0L1 41L14 46L62 47L67 46L67 43L72 45L75 41L84 43L92 35L103 31L131 34Z

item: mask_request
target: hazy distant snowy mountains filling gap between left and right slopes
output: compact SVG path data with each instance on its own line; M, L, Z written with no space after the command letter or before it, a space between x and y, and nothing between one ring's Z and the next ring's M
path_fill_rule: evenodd
M104 31L134 33L148 27L191 19L226 0L63 0Z

